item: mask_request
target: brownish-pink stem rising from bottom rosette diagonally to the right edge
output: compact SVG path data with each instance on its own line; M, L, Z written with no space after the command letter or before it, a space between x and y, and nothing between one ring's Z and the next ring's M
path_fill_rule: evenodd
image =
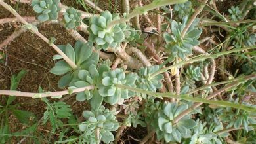
M255 74L253 75L248 75L246 77L244 77L244 79L242 79L242 81L247 81L249 79L254 79L256 77ZM221 88L219 89L217 92L214 92L213 94L207 96L206 99L211 99L215 96L217 96L218 94L221 94L221 92L224 92L230 88L232 88L233 86L236 86L237 84L240 84L241 81L235 81L235 82L232 82L228 85L226 85L224 88ZM188 113L190 113L190 111L193 111L193 109L196 109L197 107L199 107L200 105L202 105L203 103L202 102L197 102L197 103L194 103L194 105L192 105L190 108L186 109L185 111L182 111L182 113L180 113L179 115L177 115L177 117L174 118L173 122L174 123L177 123L182 117L188 115Z

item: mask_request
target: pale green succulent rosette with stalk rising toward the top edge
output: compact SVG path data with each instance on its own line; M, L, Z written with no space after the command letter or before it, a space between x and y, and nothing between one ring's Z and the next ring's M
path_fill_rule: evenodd
M120 43L125 41L124 31L125 23L117 24L109 27L112 20L118 20L118 14L111 14L109 11L104 11L100 16L93 16L89 22L89 41L96 43L96 48L104 49L116 48Z

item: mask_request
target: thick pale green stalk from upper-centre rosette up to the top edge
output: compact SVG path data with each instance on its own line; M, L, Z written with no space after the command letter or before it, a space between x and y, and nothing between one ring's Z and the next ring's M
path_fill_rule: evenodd
M186 1L188 1L188 0L155 0L152 3L145 5L144 7L135 8L130 14L127 14L127 16L125 16L125 18L121 18L119 20L114 20L114 21L110 22L110 24L108 25L108 29L115 26L116 24L120 24L122 22L131 20L131 18L134 18L135 16L145 14L149 10L153 10L158 7L165 6L165 5L173 5L175 3L185 3Z

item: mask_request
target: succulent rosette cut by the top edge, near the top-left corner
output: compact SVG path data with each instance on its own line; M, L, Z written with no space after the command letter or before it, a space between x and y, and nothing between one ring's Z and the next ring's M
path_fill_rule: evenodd
M37 13L37 19L45 22L47 20L56 20L60 7L60 0L32 0L33 10Z

